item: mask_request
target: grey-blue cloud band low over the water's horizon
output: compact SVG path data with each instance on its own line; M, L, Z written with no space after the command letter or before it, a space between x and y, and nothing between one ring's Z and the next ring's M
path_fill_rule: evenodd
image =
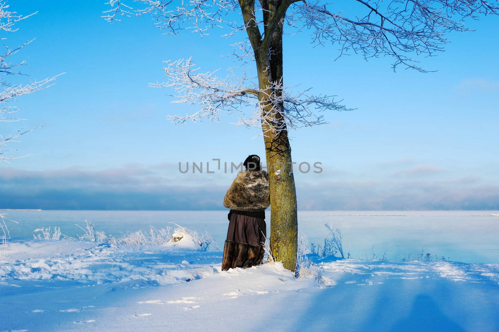
M424 169L406 173L419 175ZM222 176L185 185L138 166L102 171L2 168L0 209L224 210L229 185ZM471 177L297 181L296 186L299 210L499 210L499 186Z

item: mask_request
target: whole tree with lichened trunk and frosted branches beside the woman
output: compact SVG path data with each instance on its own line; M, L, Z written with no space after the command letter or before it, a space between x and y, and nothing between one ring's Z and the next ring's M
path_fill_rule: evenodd
M226 78L216 71L201 72L191 58L166 61L168 81L152 84L173 89L176 102L197 105L186 116L170 116L176 123L208 118L218 121L221 112L254 107L238 124L261 128L270 174L270 249L276 260L293 270L296 262L297 217L288 129L324 123L321 111L346 110L333 96L292 93L283 84L282 42L284 26L290 34L309 29L318 44L339 46L339 56L359 53L365 59L390 55L393 69L399 65L424 72L412 56L434 55L448 42L450 31L466 31L466 19L497 14L498 3L484 0L135 0L132 8L122 0L110 0L105 19L120 15L149 14L163 31L179 34L184 29L201 36L209 29L230 29L233 56L254 64L231 68ZM240 23L235 23L240 22ZM242 38L239 32L244 32ZM246 40L244 40L246 39Z

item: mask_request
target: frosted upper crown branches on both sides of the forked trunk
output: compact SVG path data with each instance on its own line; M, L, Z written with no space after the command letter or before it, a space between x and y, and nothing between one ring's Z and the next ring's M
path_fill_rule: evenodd
M122 15L151 14L158 27L174 34L191 29L203 35L215 26L229 26L233 32L249 28L256 31L263 25L261 1L240 4L236 0L129 0L127 3L109 0L110 9L103 17L113 22ZM137 4L138 8L130 3ZM275 9L275 17L285 16L290 26L312 30L316 43L340 45L339 56L350 51L366 59L390 55L395 58L394 69L403 64L419 71L425 69L411 54L434 55L448 43L448 32L468 30L467 18L499 13L497 0L354 0L348 5L324 0L283 0L280 4ZM235 23L229 15L240 8L245 24ZM269 21L264 30L272 32L279 20ZM267 35L261 36L265 44L270 34L267 31ZM238 42L233 46L240 47ZM250 50L244 54L248 53Z

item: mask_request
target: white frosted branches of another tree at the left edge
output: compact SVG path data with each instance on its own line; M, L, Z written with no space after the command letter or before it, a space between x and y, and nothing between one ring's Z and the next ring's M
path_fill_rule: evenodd
M0 33L5 35L9 32L17 31L14 27L14 24L28 18L36 14L36 12L29 15L19 15L15 11L9 10L9 5L7 1L0 2ZM2 36L1 39L6 39L6 37ZM55 80L57 76L51 78L45 78L42 80L30 80L28 83L24 84L14 84L7 81L7 78L10 76L16 75L24 75L20 71L20 67L27 64L26 60L21 61L12 61L12 58L15 57L15 54L27 46L33 40L28 40L24 42L22 45L10 48L5 46L5 50L0 54L0 86L3 88L0 91L0 122L8 123L8 122L17 122L20 120L15 117L15 113L19 110L17 107L11 105L12 102L15 102L18 97L22 95L26 95L32 93L36 90L47 88L51 85L51 82ZM37 128L35 128L37 129ZM11 159L22 158L25 156L17 155L18 150L7 149L8 143L18 142L16 139L28 132L33 131L34 129L25 129L21 128L12 134L2 135L0 133L0 162L9 162Z

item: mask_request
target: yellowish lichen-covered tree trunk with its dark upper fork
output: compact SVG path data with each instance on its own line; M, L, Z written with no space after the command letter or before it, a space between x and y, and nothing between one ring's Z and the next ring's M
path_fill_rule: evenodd
M270 180L270 251L284 268L295 271L298 239L296 190L292 173L291 148L285 120L282 95L282 30L290 1L260 0L263 10L264 37L254 15L254 0L239 0L246 32L250 39L258 73L258 100L262 108L262 130L265 159ZM276 87L277 85L277 87ZM275 98L277 97L277 98ZM277 112L276 112L277 110ZM263 119L270 119L270 128Z

